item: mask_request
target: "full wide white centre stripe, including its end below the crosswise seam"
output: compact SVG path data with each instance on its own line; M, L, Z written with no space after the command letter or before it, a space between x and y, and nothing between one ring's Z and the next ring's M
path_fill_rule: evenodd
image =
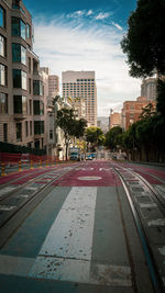
M73 272L70 271L68 278L88 282L96 198L97 188L95 187L75 187L70 190L47 234L30 277L41 278L43 272L43 278L57 280L61 274L66 280L72 267ZM51 264L47 266L47 262ZM55 271L58 273L54 274ZM77 272L77 277L74 277L74 271ZM68 278L67 280L70 280Z

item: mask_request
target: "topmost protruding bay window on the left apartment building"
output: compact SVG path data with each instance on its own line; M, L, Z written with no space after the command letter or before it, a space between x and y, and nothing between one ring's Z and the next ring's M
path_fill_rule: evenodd
M25 23L21 19L12 18L11 27L13 36L21 36L25 40Z

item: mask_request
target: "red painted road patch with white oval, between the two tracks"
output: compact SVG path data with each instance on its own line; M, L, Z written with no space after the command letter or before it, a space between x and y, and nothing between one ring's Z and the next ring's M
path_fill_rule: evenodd
M59 187L116 187L121 185L121 182L109 165L97 161L84 164L76 170L70 170L53 184Z

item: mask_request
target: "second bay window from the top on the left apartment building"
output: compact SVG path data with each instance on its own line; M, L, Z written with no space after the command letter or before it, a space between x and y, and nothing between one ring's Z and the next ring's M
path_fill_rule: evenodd
M26 65L26 49L21 44L12 44L12 60Z

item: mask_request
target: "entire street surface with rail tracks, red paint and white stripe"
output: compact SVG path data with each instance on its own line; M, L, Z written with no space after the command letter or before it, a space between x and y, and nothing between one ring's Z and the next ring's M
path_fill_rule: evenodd
M0 184L1 292L163 292L164 167L100 159Z

